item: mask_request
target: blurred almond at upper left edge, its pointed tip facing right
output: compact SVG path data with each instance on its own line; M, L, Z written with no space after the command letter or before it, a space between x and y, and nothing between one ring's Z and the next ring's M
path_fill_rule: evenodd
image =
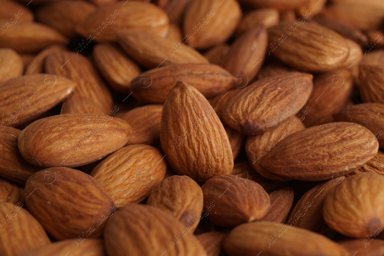
M37 22L15 21L17 23L13 24L10 20L0 20L0 27L7 27L0 37L0 47L35 53L56 43L67 43L67 39L54 28Z

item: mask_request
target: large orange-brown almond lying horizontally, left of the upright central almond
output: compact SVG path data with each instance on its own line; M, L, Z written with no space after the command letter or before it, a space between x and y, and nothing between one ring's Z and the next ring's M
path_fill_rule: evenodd
M119 118L64 114L28 125L20 133L18 146L31 165L75 167L119 150L131 134L131 126Z

